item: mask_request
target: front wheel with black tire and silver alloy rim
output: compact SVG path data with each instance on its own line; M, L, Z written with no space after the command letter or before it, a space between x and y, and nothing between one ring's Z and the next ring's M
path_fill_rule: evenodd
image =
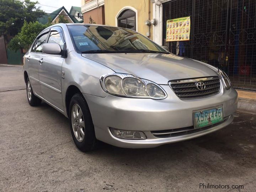
M70 130L77 148L88 152L96 149L94 124L89 107L81 94L75 94L69 104Z

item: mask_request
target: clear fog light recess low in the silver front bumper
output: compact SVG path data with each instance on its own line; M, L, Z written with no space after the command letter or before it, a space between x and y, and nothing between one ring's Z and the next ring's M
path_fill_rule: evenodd
M114 137L120 139L130 139L130 140L144 140L146 135L142 131L130 131L130 130L121 130L110 127L110 132Z

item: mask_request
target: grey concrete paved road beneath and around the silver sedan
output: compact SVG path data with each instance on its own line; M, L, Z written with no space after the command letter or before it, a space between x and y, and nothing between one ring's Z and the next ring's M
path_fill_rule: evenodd
M0 66L0 80L22 79L21 69ZM239 191L203 190L200 183L256 189L254 114L237 112L230 126L186 142L153 149L101 144L82 153L62 114L45 103L29 106L25 90L0 88L0 191Z

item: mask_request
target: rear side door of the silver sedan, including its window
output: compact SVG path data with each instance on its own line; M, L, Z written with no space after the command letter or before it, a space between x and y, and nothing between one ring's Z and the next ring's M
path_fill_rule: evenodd
M25 58L28 66L28 75L32 85L32 89L39 96L42 96L42 91L39 83L38 61L42 57L42 46L44 43L46 43L47 37L48 32L40 35L34 42L30 54L28 54Z

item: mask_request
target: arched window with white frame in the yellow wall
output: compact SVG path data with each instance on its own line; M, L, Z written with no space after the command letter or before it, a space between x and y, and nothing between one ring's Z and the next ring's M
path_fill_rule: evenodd
M118 16L118 27L136 30L136 13L130 9L124 10Z

